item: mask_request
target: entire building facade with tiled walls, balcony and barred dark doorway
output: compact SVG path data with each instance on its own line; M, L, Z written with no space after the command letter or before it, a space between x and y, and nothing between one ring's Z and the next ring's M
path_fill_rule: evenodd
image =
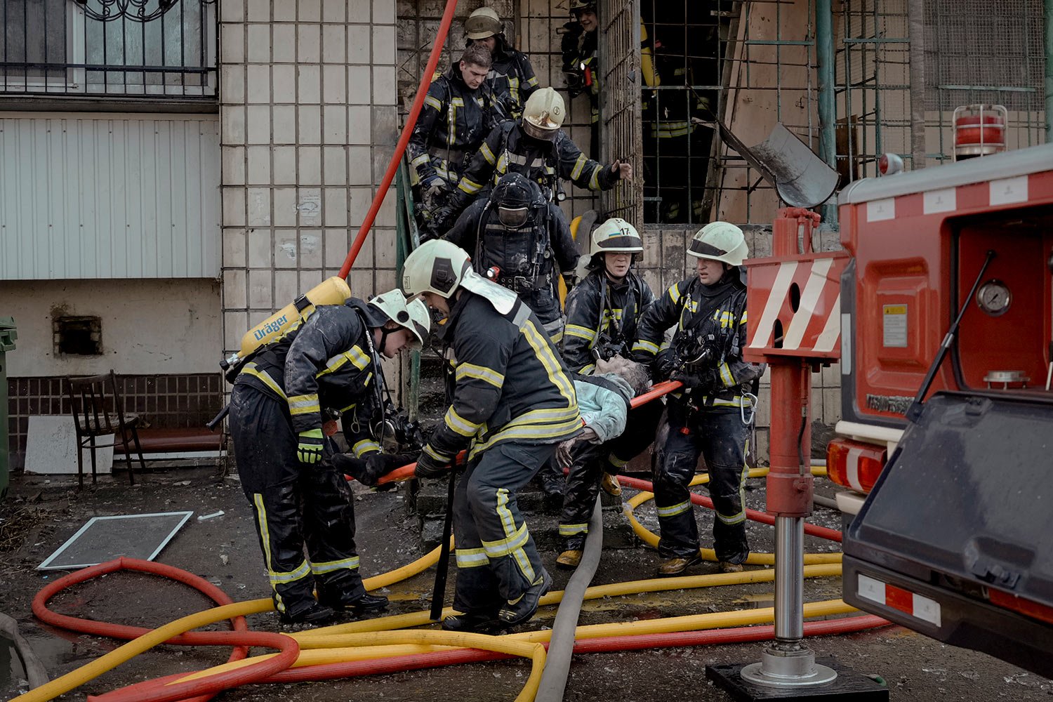
M482 4L505 19L539 83L564 89L568 0L458 3L440 69ZM1008 147L1041 143L1049 13L1041 0L997 4L600 0L591 156L631 159L637 177L601 197L568 183L562 207L636 224L642 274L658 292L689 274L686 242L701 223L748 225L752 255L769 252L778 199L716 138L718 120L748 145L781 122L842 186L875 176L883 153L908 168L949 160L957 105L1002 104ZM73 0L0 7L0 316L19 325L15 465L27 417L65 413L56 379L66 375L114 367L137 393L141 384L152 421L200 424L222 400L218 359L339 269L444 3L179 0L148 22L110 23L105 38ZM565 128L588 151L589 100L569 104ZM395 285L401 206L393 186L351 272L354 295ZM838 247L836 213L822 212L815 243ZM101 353L56 352L63 317L98 318ZM393 384L403 369L389 369ZM200 406L184 407L175 396L192 386ZM838 387L836 365L816 374L815 419L839 418ZM768 416L762 403L761 457Z

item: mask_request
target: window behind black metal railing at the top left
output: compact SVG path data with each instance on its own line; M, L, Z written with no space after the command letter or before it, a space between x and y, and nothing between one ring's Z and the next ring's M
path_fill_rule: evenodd
M0 0L0 95L215 102L215 0Z

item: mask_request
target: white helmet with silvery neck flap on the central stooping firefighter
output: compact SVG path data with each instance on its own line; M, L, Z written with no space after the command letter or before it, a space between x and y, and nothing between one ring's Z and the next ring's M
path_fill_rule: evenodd
M511 312L519 298L472 269L472 259L460 246L433 239L418 246L402 264L402 292L406 297L434 293L450 299L457 287L471 290L493 303L502 315Z

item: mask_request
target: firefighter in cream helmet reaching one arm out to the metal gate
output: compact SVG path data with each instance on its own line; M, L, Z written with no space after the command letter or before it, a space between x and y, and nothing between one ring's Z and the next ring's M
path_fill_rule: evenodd
M498 124L486 136L449 202L435 216L433 230L449 229L484 187L496 185L510 172L536 181L550 200L557 197L560 178L590 190L609 190L619 179L632 179L632 164L616 160L603 166L582 154L559 128L565 117L563 98L551 87L530 96L519 120Z

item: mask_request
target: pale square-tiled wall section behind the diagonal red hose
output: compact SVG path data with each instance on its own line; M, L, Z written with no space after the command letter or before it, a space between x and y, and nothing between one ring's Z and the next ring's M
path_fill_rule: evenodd
M395 0L220 0L219 18L230 352L336 275L365 219L398 139ZM395 202L352 268L356 297L396 284Z

